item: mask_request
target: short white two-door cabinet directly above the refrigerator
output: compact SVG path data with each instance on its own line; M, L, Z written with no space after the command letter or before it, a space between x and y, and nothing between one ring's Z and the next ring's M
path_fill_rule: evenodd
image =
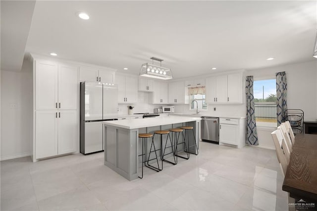
M81 66L79 68L79 80L112 84L114 83L114 73L111 70Z

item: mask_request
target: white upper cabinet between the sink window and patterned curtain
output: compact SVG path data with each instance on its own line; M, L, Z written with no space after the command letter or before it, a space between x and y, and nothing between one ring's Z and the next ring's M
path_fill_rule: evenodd
M242 74L206 78L206 102L209 104L242 103Z

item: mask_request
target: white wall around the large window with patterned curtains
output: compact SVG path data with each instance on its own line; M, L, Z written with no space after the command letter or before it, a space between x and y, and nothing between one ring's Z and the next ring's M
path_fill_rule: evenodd
M276 72L286 72L287 107L304 110L304 120L317 120L317 61L247 71L255 80L275 78ZM274 148L270 133L276 128L257 127L259 146Z

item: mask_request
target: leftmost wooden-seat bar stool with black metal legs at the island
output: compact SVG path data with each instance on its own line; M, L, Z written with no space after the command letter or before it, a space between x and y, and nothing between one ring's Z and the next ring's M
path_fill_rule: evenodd
M151 138L151 137L152 137L152 144L151 144L149 158L147 160L146 159L146 155L147 155L147 146L148 145L147 145L146 141L147 141L148 138ZM155 145L154 145L154 141L153 141L153 135L151 133L139 133L139 138L142 138L142 154L139 155L139 156L142 156L142 176L141 177L139 176L139 178L142 179L143 178L143 163L148 168L151 168L153 170L159 171L159 160L158 160L158 155L157 155L157 152L156 152L156 149L155 149ZM154 151L152 151L152 145L154 146ZM151 156L152 152L155 152L156 158L153 158L153 159L157 160L158 168L149 164L149 159L150 159L150 156ZM145 159L144 159L144 157L145 157ZM151 160L153 160L153 159L151 159ZM146 162L148 162L148 165L147 165Z

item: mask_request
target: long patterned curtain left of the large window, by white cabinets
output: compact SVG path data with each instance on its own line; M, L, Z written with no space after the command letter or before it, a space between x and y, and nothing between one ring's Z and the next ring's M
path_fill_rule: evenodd
M246 144L259 145L256 116L255 116L255 110L254 110L253 76L247 76L246 95L247 95Z

